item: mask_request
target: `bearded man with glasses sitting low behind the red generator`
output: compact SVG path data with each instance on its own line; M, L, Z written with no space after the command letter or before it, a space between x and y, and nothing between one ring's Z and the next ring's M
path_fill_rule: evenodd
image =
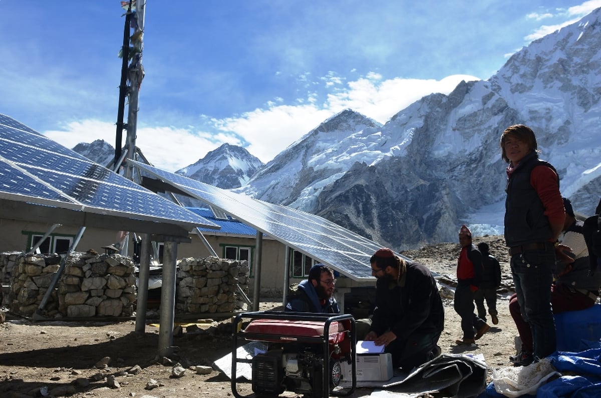
M334 271L324 264L311 267L308 279L301 281L297 293L288 297L285 311L339 314L334 293Z

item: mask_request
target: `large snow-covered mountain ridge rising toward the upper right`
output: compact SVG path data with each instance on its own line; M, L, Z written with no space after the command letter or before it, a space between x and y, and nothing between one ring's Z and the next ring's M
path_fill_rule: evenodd
M601 196L600 16L597 9L532 42L487 81L426 96L382 127L341 112L236 191L319 214L395 250L454 241L462 222L502 233L499 138L523 123L560 173L563 194L590 214Z

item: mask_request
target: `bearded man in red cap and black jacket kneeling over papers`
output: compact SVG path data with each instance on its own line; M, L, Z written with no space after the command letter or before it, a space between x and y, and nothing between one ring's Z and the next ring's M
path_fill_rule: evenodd
M425 265L406 262L389 248L376 251L370 263L376 308L364 340L386 346L392 364L409 372L441 354L445 314L436 281Z

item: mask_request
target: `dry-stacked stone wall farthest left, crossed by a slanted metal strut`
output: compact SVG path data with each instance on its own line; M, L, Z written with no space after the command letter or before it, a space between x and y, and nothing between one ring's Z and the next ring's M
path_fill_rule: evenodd
M17 256L10 278L8 308L30 316L59 269L60 256ZM136 301L135 266L118 254L71 253L41 311L45 317L130 316Z

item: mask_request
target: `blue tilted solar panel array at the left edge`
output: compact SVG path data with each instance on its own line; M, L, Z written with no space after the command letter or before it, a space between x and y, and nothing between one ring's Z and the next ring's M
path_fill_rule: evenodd
M0 198L102 215L218 225L0 114Z

